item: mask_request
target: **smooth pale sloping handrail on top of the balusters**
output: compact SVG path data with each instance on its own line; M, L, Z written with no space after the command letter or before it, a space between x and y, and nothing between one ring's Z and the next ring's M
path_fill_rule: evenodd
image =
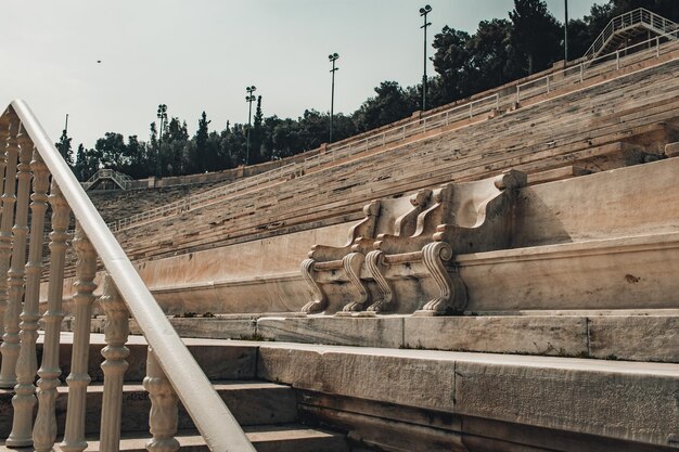
M21 120L210 450L254 452L28 105L16 100L8 111Z

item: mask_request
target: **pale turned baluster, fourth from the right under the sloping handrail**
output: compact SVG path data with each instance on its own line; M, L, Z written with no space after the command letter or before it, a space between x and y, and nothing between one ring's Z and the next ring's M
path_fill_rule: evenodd
M49 196L52 206L52 232L50 233L50 281L47 295L47 311L42 317L44 344L42 362L38 370L38 415L33 429L36 452L50 452L56 440L56 387L61 323L64 319L62 298L64 292L64 261L68 240L69 208L56 182L52 181Z

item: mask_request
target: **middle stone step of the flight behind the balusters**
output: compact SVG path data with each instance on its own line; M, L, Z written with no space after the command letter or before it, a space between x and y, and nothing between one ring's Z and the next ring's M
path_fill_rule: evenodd
M266 382L216 382L219 392L229 410L241 425L284 424L297 421L296 399L289 386ZM68 388L59 389L56 399L56 424L59 435L64 431ZM88 387L86 434L99 431L101 423L103 385ZM0 390L0 431L12 429L13 391ZM129 384L123 388L123 432L148 432L151 402L141 384ZM183 406L179 409L179 429L195 428Z

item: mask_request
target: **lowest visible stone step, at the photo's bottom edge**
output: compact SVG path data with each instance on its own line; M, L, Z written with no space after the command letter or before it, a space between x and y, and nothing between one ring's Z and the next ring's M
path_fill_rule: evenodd
M257 452L348 452L344 435L300 424L262 425L244 427L245 435ZM177 435L181 452L209 451L203 437L195 431L180 431ZM121 452L145 452L148 437L124 436L120 440ZM0 452L33 452L33 448L10 449L0 443ZM88 441L86 451L99 451L99 440Z

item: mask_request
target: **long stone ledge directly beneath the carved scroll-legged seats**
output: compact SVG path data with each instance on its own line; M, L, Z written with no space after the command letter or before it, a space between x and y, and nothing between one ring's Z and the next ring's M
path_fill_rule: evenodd
M521 315L300 317L298 313L170 318L182 337L353 347L593 358L679 363L676 310L554 312ZM103 318L91 332L103 333ZM65 330L71 322L64 321ZM130 320L132 334L141 334Z

